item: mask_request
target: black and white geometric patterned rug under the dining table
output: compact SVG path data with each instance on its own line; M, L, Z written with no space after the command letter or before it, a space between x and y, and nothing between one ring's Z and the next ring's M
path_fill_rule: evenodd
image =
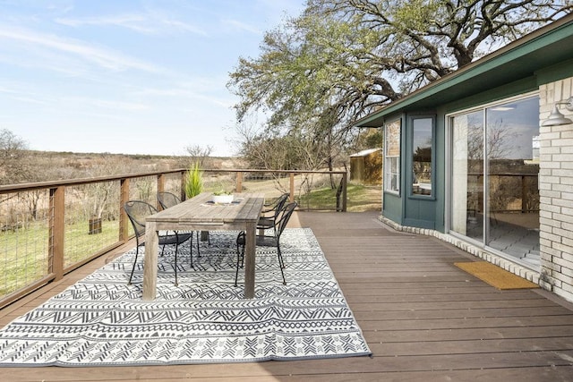
M135 250L98 269L0 331L0 366L127 366L304 360L371 354L312 230L257 247L255 298L235 287L236 233L211 232L201 258L173 249L158 259L158 297L141 300ZM141 251L143 249L141 248Z

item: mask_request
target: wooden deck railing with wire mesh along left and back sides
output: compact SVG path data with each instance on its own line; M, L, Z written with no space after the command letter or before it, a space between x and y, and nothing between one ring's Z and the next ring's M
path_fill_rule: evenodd
M0 308L133 237L122 206L184 199L186 169L0 186ZM204 170L205 191L288 192L301 209L346 211L346 172Z

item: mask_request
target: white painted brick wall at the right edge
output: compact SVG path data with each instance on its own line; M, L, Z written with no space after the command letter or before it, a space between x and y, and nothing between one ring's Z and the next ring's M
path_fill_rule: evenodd
M540 87L540 121L553 104L573 96L573 78ZM573 119L573 112L560 106ZM573 301L573 124L541 126L540 149L540 284Z

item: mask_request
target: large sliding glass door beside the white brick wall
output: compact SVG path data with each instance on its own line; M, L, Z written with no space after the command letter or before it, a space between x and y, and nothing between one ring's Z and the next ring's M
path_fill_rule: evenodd
M450 231L536 265L539 99L449 118Z

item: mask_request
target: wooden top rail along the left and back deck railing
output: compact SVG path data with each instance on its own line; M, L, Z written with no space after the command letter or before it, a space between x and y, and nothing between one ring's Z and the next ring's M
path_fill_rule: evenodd
M56 188L61 186L72 186L99 182L121 181L128 178L138 178L143 176L153 176L161 174L176 174L187 171L187 168L178 168L175 170L162 170L151 171L145 173L135 174L117 174L117 175L104 175L91 178L78 178L78 179L64 179L59 181L47 181L36 183L19 183L19 184L6 184L0 186L0 194L14 192L14 191L32 191L47 188ZM321 171L321 170L261 170L261 169L205 169L202 170L206 173L273 173L273 174L346 174L346 171Z

